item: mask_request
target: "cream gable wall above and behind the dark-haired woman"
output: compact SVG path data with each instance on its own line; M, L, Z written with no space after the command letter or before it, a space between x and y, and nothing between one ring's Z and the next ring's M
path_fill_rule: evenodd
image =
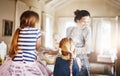
M70 4L65 5L64 7L58 8L57 11L55 12L56 14L55 28L57 29L55 31L56 33L61 33L59 31L61 31L61 29L64 28L64 26L58 28L60 26L60 24L58 24L59 19L69 18L69 17L73 18L74 11L76 9L88 10L91 13L92 17L95 17L95 16L106 17L106 16L120 15L120 9L108 4L105 0L73 0L73 2L71 2Z

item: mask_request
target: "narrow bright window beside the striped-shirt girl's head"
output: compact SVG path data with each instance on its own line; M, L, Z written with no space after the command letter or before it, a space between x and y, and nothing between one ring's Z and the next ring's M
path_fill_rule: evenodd
M43 13L44 20L44 46L47 48L53 48L53 17L49 14Z

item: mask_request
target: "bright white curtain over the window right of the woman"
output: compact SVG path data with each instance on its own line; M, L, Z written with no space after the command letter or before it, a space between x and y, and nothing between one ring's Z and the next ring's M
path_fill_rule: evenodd
M99 55L116 56L118 17L92 18L92 42Z

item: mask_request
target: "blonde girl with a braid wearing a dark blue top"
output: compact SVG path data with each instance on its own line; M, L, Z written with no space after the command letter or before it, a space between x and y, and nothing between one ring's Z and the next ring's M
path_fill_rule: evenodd
M75 46L72 39L63 38L59 48L61 56L56 59L53 76L80 76L79 67L74 59Z

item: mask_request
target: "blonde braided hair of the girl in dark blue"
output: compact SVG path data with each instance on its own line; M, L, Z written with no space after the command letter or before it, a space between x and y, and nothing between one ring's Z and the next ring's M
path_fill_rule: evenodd
M63 38L60 41L59 48L61 48L61 52L63 56L70 55L70 76L72 76L72 65L73 65L73 53L75 51L75 46L72 38Z

